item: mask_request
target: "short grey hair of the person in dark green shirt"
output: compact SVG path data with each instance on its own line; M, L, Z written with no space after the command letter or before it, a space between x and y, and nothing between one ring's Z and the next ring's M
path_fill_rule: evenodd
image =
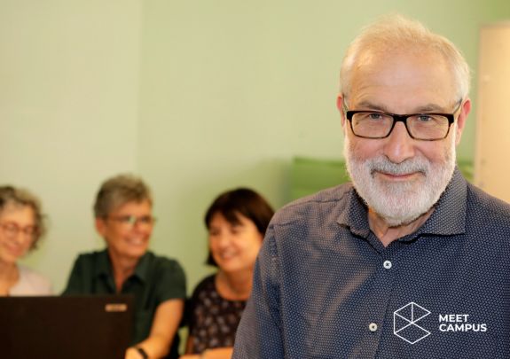
M139 203L145 200L153 204L151 191L141 178L132 175L114 176L101 185L94 203L94 215L96 218L106 218L128 202Z

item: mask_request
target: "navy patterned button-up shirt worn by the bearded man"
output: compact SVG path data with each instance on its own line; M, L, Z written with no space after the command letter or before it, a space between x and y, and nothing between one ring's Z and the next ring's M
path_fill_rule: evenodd
M233 358L509 358L510 206L456 169L388 247L350 184L271 221Z

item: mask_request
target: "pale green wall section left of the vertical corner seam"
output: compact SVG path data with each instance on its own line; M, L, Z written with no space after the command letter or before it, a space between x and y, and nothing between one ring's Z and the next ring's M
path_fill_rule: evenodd
M27 263L59 292L101 245L99 183L137 171L141 3L0 0L0 183L35 191L49 234Z

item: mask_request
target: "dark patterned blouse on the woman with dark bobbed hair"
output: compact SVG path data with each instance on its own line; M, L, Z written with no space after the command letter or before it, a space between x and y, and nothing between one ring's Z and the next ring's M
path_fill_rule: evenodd
M246 300L226 300L216 290L216 275L203 279L195 288L190 301L189 325L192 352L233 347L236 329Z

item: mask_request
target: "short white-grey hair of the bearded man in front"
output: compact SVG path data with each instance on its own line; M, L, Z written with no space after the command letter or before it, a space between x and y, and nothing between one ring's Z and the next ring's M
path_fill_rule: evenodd
M451 66L458 93L458 99L466 99L469 93L471 72L466 59L450 40L432 33L417 20L410 20L400 14L383 16L365 27L349 44L341 64L341 93L349 97L352 86L352 70L363 66L364 60L372 56L391 57L398 51L436 51L443 55Z

